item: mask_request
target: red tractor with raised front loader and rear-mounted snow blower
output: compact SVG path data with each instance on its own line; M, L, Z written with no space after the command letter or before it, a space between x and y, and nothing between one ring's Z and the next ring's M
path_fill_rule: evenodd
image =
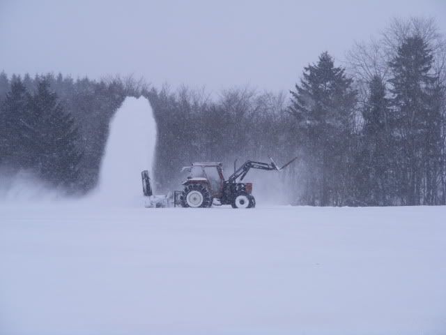
M233 208L254 208L256 200L252 195L252 183L242 182L249 170L280 171L293 163L296 158L293 158L282 168L279 168L272 158L270 158L271 163L246 161L239 168L236 168L236 162L234 162L234 172L227 180L223 176L222 163L193 163L181 170L188 172L188 175L182 183L183 191L174 191L174 206L206 208L212 207L213 204L216 206L231 204ZM165 198L162 196L153 197L148 172L143 171L141 176L144 195L150 195L157 204L163 201L168 204L168 196ZM165 200L160 201L161 199ZM164 206L160 205L159 207Z

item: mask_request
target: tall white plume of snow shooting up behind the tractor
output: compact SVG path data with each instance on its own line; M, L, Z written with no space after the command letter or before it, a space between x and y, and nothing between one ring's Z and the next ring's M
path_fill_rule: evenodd
M157 127L146 98L125 98L110 121L95 199L113 205L142 202L141 171L152 171Z

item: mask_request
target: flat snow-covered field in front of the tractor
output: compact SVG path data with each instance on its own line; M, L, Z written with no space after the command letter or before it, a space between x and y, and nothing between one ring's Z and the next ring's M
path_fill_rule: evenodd
M446 334L445 218L0 204L0 334Z

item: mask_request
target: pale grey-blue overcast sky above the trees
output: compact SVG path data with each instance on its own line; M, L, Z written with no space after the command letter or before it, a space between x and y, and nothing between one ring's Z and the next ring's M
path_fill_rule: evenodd
M446 32L443 0L0 0L0 71L288 90L324 50L342 61L354 40L410 15Z

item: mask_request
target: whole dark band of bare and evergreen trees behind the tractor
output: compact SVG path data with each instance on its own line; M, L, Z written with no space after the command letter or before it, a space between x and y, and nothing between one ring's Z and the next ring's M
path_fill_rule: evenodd
M155 179L178 188L193 161L298 163L268 189L315 206L446 204L446 43L433 20L393 20L344 64L322 52L289 94L164 86L109 77L0 74L0 166L70 193L98 180L108 123L125 96L157 121ZM231 170L231 169L229 169Z

